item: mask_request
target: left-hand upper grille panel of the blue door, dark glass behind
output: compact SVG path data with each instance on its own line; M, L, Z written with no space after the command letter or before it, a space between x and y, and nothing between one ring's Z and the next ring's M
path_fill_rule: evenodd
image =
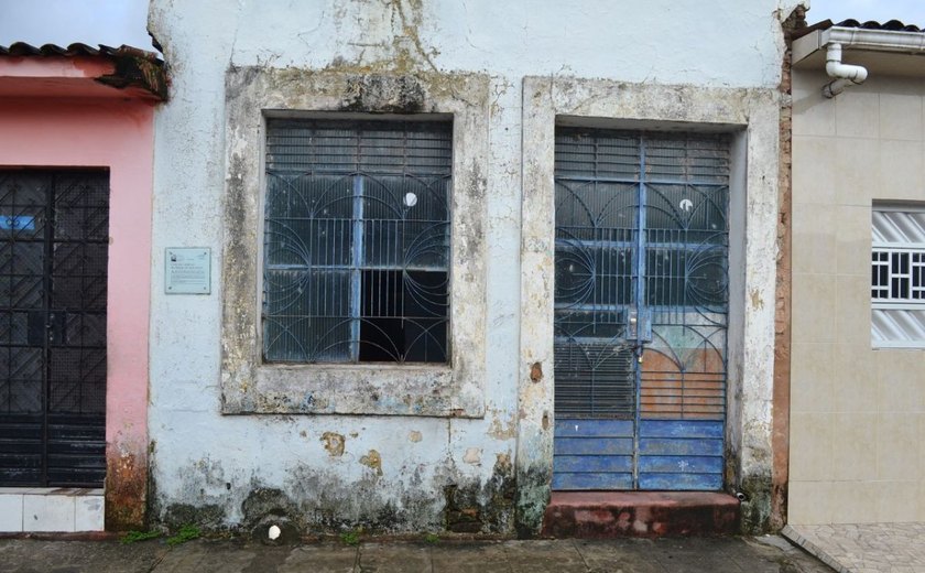
M631 419L639 138L591 133L556 132L556 415Z

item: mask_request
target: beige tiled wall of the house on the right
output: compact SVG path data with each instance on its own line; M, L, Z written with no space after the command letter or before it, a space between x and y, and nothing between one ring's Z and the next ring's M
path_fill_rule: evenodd
M873 349L873 201L925 202L925 82L793 76L791 523L925 521L925 349Z

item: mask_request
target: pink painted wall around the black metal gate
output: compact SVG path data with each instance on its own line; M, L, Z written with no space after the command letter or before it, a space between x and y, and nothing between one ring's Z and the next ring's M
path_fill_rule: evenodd
M109 169L107 458L131 456L144 478L153 115L124 98L0 98L0 166Z

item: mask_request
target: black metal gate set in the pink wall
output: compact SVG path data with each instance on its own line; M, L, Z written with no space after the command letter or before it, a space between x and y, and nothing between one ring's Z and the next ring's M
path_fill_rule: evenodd
M0 170L0 486L102 485L108 248L107 172Z

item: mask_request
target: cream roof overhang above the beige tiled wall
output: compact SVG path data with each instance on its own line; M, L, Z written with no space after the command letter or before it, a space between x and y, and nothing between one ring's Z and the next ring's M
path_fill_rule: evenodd
M793 67L825 69L829 44L840 44L845 62L888 76L925 77L925 33L834 25L793 42Z

